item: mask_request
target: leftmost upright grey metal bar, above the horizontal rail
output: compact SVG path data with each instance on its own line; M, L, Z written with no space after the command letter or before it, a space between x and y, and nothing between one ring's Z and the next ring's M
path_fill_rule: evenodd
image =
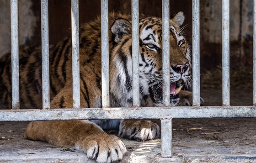
M18 0L11 0L11 104L20 109Z

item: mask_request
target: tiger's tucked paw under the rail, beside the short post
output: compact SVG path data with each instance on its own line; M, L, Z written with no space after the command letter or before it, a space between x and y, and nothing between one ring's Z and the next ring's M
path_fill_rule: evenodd
M147 141L158 138L160 127L149 120L123 120L119 126L118 137Z

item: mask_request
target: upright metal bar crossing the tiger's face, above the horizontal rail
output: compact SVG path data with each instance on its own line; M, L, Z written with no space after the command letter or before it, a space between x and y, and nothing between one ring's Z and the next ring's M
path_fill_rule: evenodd
M170 1L162 0L163 105L170 106Z

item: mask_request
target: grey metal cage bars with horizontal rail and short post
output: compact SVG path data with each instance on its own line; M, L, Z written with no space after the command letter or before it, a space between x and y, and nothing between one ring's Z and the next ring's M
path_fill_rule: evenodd
M163 60L169 60L169 0L162 0ZM193 106L170 107L169 62L163 62L163 107L139 107L139 0L132 0L133 107L109 108L108 0L101 0L102 108L80 108L78 0L71 2L73 108L50 110L48 0L41 0L43 109L19 110L18 0L11 0L12 110L1 110L0 121L47 121L80 119L161 119L161 154L171 157L172 118L256 117L256 1L253 1L253 106L229 102L229 0L222 1L223 105L200 106L199 0L192 1ZM103 53L104 52L104 53Z

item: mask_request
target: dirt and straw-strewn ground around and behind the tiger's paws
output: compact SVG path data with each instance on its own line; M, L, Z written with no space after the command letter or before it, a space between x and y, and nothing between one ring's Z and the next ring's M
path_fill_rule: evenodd
M214 83L215 82L215 83ZM204 105L222 105L219 81L201 87ZM251 86L231 84L231 105L253 105ZM85 154L23 137L29 122L0 122L0 163L73 163L93 161ZM160 157L160 139L122 139L128 153L122 163L256 163L256 118L173 119L172 158ZM117 131L108 131L117 134Z

